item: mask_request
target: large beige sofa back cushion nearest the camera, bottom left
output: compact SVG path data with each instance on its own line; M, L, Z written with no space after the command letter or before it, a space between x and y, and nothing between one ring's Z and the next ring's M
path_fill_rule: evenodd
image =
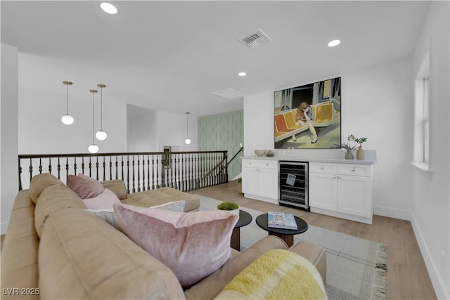
M38 262L41 299L184 299L167 266L83 209L49 216Z

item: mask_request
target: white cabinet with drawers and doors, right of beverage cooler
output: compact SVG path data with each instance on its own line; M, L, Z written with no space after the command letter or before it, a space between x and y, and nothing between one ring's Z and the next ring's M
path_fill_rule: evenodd
M372 223L371 164L309 163L311 211Z

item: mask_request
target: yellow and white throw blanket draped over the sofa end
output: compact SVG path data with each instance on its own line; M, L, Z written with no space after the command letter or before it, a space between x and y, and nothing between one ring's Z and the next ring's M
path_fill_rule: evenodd
M328 299L319 272L283 249L266 252L240 272L215 299Z

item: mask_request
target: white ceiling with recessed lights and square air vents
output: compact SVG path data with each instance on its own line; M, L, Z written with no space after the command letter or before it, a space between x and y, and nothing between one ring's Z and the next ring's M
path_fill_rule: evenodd
M411 56L428 1L1 1L1 43L20 53L71 61L127 103L211 115L239 110L245 94L326 79ZM261 29L272 42L250 50L237 39ZM335 48L326 44L341 39ZM49 60L51 58L51 60ZM45 70L42 63L41 74ZM51 65L49 63L48 65ZM54 69L53 69L54 70ZM245 71L247 77L238 77ZM72 77L73 74L73 77ZM92 77L92 78L91 78ZM43 76L45 78L45 76ZM42 79L41 79L42 80ZM75 89L74 85L74 89ZM86 87L86 93L89 89Z

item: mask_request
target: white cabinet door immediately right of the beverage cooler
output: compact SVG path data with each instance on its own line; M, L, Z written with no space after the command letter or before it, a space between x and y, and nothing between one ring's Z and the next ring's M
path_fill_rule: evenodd
M335 174L309 173L309 206L335 211L337 184Z

